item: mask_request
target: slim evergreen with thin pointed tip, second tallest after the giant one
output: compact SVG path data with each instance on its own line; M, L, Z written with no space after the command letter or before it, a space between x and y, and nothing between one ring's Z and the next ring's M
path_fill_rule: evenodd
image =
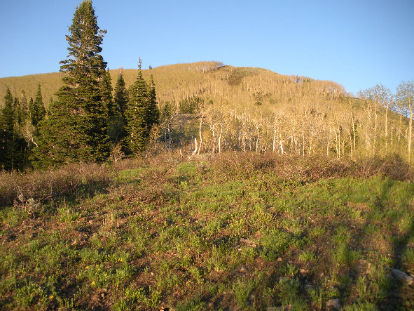
M148 86L142 77L141 59L139 59L138 76L130 87L130 101L126 111L127 131L130 149L134 154L143 152L149 137L147 126L147 109L149 106Z

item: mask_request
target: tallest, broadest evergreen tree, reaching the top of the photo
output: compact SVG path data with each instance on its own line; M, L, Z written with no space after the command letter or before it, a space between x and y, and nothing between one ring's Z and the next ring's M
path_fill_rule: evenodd
M106 62L100 54L104 30L99 30L92 1L74 13L67 60L60 62L64 86L41 122L41 140L34 157L41 166L67 161L103 161L109 155L104 88Z

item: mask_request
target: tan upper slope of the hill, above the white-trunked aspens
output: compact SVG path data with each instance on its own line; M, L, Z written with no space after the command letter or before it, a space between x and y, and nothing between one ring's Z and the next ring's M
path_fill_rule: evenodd
M123 74L125 84L130 86L137 77L137 70L125 69ZM256 92L265 95L265 102L280 100L284 93L291 93L291 97L298 94L318 97L326 93L343 93L343 87L332 81L298 77L299 83L295 83L296 76L283 76L261 68L223 66L219 62L166 65L143 70L143 74L147 81L149 76L153 75L160 102L179 102L184 98L198 95L221 104L247 104L254 102ZM111 70L113 86L117 75L118 70ZM10 86L14 96L20 96L20 92L25 90L28 97L34 97L40 83L47 105L49 99L55 98L55 92L62 86L62 77L62 73L54 72L1 78L0 98L4 98L6 86Z

